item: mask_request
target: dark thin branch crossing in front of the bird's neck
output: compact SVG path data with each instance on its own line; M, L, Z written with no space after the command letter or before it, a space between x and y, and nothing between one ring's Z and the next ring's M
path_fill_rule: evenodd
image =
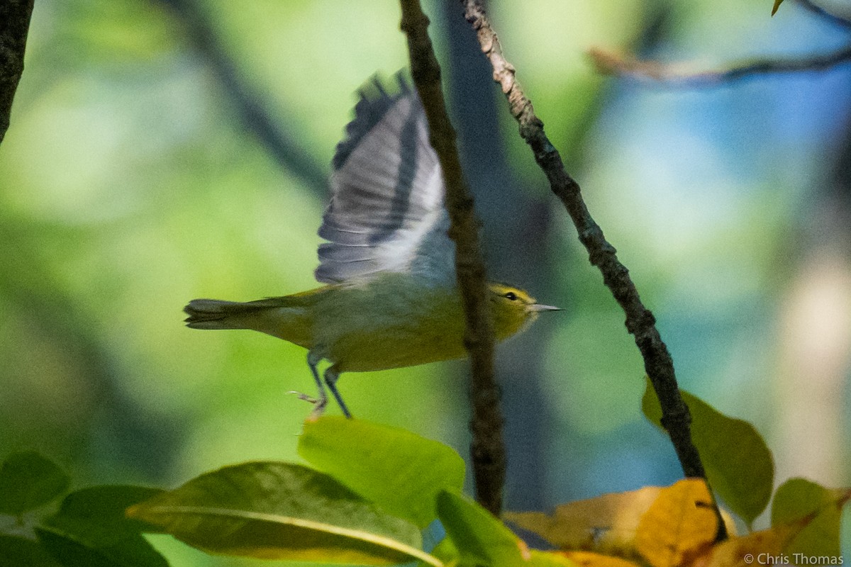
M455 242L455 271L466 316L464 344L471 360L471 456L476 499L498 515L505 484L505 445L500 388L494 378L494 324L488 307L478 223L443 100L440 66L428 37L429 20L419 0L401 0L401 5L411 77L426 111L431 145L443 169L449 237Z

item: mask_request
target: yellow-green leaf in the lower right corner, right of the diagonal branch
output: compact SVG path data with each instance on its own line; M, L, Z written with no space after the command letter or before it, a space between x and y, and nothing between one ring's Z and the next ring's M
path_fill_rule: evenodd
M829 489L807 479L789 479L780 485L771 504L771 525L804 524L785 547L785 553L800 553L805 557L840 557L842 506L849 498L849 489ZM794 563L800 564L799 561Z

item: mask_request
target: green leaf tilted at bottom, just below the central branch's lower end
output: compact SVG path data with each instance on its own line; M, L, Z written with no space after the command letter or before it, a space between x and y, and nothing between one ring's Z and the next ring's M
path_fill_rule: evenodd
M527 564L523 541L476 502L443 490L437 495L437 515L458 550L461 565Z

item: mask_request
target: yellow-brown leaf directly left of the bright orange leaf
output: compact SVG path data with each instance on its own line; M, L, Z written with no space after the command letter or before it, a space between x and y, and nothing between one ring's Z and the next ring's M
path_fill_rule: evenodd
M506 512L503 518L560 549L593 549L629 555L638 523L662 489L645 486L556 507L552 515Z

